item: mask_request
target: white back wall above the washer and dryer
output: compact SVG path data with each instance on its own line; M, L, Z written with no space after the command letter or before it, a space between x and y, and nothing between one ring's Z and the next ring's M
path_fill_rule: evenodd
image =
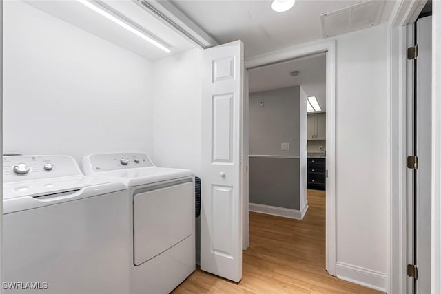
M152 151L152 64L4 1L4 152Z

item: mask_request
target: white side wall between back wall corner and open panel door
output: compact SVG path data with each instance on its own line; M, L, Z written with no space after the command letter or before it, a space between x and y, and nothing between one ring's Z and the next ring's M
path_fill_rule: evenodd
M202 52L190 50L154 67L154 163L201 173Z

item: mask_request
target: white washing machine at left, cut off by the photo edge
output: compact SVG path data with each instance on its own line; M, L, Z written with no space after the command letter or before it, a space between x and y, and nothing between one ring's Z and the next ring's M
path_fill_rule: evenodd
M45 155L3 157L3 182L5 293L129 291L125 185Z

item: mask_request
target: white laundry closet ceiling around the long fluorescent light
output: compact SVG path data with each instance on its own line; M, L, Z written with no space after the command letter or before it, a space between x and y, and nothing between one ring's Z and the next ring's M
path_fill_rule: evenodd
M164 23L140 8L131 0L106 0L103 2L122 14L126 19L130 19L130 21L140 25L152 33L152 35L157 36L157 39L161 39L170 45L172 52L167 53L156 48L156 46L128 32L124 28L121 28L121 26L102 17L100 14L97 14L77 1L27 0L25 2L34 6L34 8L51 14L54 17L62 19L151 61L162 59L166 56L195 47L194 44L190 43L181 36L181 34L167 27Z

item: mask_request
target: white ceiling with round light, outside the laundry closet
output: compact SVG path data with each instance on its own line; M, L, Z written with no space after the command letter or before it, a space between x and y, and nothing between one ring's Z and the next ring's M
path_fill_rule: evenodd
M321 39L320 14L352 6L358 0L297 0L287 12L271 10L271 0L172 0L219 43L242 40L245 57ZM395 1L385 1L379 23L387 21Z

